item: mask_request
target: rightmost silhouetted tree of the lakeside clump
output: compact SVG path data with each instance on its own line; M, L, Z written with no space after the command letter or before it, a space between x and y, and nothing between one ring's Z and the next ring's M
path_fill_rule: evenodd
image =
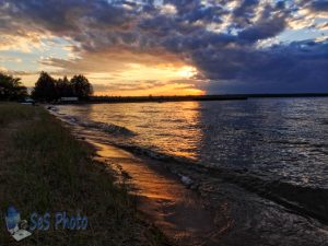
M70 84L72 86L73 95L78 96L79 99L87 99L93 93L93 87L84 75L74 75L71 79Z

